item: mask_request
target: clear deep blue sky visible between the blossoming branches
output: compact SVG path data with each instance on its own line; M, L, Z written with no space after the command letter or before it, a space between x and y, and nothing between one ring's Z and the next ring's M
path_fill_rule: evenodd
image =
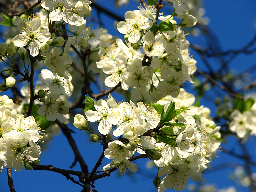
M242 3L243 2L243 3ZM137 9L137 2L131 0L129 6L123 6L119 9L113 7L113 0L98 0L97 3L101 6L106 7L108 10L113 10L117 12L119 16L123 16L124 13L128 10ZM256 1L254 0L205 0L205 9L206 16L210 18L209 28L218 36L220 41L220 46L222 50L229 49L239 49L247 44L255 34L255 18L256 18ZM93 10L93 8L92 8ZM95 10L92 11L92 14L97 14ZM123 16L124 17L124 16ZM101 14L101 18L104 22L104 27L108 29L108 32L112 35L117 35L122 37L114 28L112 18ZM187 39L191 44L198 44L201 46L205 45L204 38L199 37L190 37L187 36ZM205 70L204 64L200 59L200 56L191 51L194 55L194 59L197 60L197 67L200 70ZM230 63L230 68L234 68L237 74L245 71L246 69L255 65L256 54L252 55L239 55L235 60ZM216 70L219 68L219 64L216 60L210 60L210 64ZM251 79L255 79L255 71L251 74ZM191 85L187 84L187 90L191 90ZM185 89L186 89L185 88ZM216 92L219 95L225 95L221 90L209 90L207 94L214 98ZM196 94L195 92L193 92ZM200 100L200 104L203 104L205 107L209 107L214 114L215 107L212 104L213 100ZM70 126L72 127L72 126ZM72 127L74 129L74 127ZM89 170L92 170L94 164L97 162L98 157L100 156L102 147L99 143L92 143L89 141L89 135L80 130L75 130L76 134L73 134L78 148L80 149L82 155L84 156L85 162L89 166ZM255 138L250 138L247 141L247 146L250 146L250 154L255 156ZM43 149L43 153L40 157L41 164L48 165L52 164L53 166L69 169L69 166L74 161L74 155L68 145L66 138L61 134L60 136L54 136L54 139L46 144L48 148ZM237 147L237 141L235 137L228 138L227 144L223 144L225 148L233 148L236 153L241 153L241 149ZM236 164L243 165L243 161L236 159L232 156L229 156L223 152L218 154L219 158L213 160L212 167L220 167L218 171L207 170L203 172L203 182L209 184L214 184L218 188L226 188L231 185L237 186L239 191L249 191L241 186L236 185L235 182L228 179L229 174L233 171L232 167ZM103 165L110 163L109 159L104 158ZM153 192L156 191L152 184L152 180L156 175L157 169L147 169L146 163L148 160L136 160L134 163L138 165L139 170L136 174L126 174L120 176L118 172L114 172L110 177L106 177L95 182L96 190L100 192L111 191L111 192L126 192L126 191L147 191ZM229 162L228 166L224 166L223 163ZM101 166L102 167L102 166ZM79 166L76 165L74 170L79 170ZM254 169L254 171L256 171ZM21 172L13 171L14 186L16 191L80 191L81 187L73 184L70 180L67 180L64 176L49 172L49 171L28 171L23 169ZM76 180L77 178L74 177ZM6 169L3 169L3 172L0 174L1 180L1 189L0 191L8 191L7 185L7 176ZM189 182L193 182L189 180ZM167 191L170 191L169 189ZM188 191L187 189L184 191Z

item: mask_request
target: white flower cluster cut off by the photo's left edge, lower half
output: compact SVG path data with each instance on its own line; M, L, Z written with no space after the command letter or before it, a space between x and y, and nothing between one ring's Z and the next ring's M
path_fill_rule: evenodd
M28 162L36 161L41 154L38 141L43 138L42 131L33 116L24 117L23 114L12 111L4 106L0 107L0 162L3 166L20 171ZM42 141L43 142L43 141Z

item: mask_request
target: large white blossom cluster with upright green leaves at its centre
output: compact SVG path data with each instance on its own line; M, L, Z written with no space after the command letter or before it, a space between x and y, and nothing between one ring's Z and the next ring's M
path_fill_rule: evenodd
M194 95L182 88L178 97L166 96L150 105L132 101L117 104L111 94L107 101L94 101L95 109L85 112L86 119L97 121L101 134L107 135L114 130L115 137L124 138L108 142L104 155L112 162L103 170L116 167L122 174L125 169L136 172L137 165L129 159L138 152L146 154L161 168L158 177L164 178L159 182L158 191L183 190L189 177L201 180L201 172L209 166L220 146L220 126L209 119L209 108L194 102ZM174 111L176 115L170 115ZM88 127L82 115L76 115L74 121L77 128Z

